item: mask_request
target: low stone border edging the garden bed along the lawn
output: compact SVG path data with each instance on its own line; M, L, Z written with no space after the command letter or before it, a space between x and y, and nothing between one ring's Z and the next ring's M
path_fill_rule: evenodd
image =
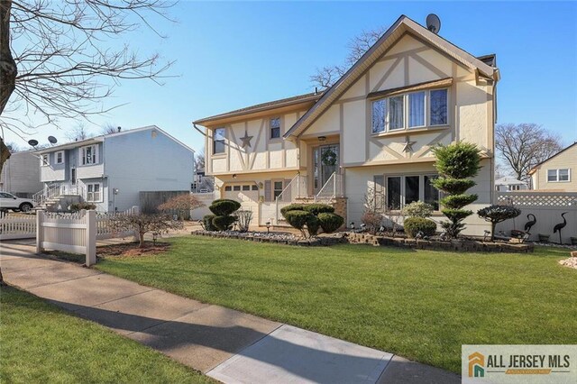
M295 246L330 246L340 243L389 245L402 248L414 248L431 251L472 251L472 252L533 252L533 244L511 244L508 242L481 242L477 240L420 240L403 237L377 236L370 233L335 233L331 236L319 236L312 239L299 239L294 236L275 235L273 233L226 233L211 231L193 231L191 234L221 239L239 239L248 242L272 242Z

